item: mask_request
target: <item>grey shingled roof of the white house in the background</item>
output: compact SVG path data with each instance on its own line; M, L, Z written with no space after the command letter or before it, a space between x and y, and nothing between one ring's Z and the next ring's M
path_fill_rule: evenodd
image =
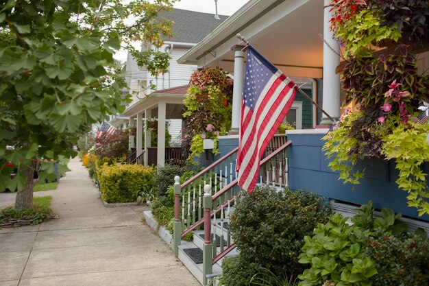
M219 20L215 19L215 14L201 13L182 9L173 9L172 12L160 14L162 18L167 18L175 22L173 26L173 38L165 38L168 42L193 43L197 44L208 34L213 32L217 26L228 19L228 16L219 15Z

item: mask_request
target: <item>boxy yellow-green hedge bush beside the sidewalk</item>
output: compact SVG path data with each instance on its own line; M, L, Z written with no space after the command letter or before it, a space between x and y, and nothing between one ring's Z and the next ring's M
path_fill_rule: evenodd
M155 169L141 165L104 166L99 182L105 202L136 202L143 187L154 187Z

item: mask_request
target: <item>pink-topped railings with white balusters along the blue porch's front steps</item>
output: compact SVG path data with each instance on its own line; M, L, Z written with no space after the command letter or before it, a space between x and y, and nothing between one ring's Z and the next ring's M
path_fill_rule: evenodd
M282 137L275 140L286 141L286 136ZM265 178L265 182L270 184L281 187L287 185L285 174L289 145L291 141L286 141L261 160L260 183ZM225 213L230 213L240 193L235 173L237 150L238 147L182 185L179 183L180 178L175 177L174 251L178 255L181 239L204 225L204 285L207 283L206 277L212 274L212 265L235 247L229 230L226 231L226 237L223 234L223 224Z

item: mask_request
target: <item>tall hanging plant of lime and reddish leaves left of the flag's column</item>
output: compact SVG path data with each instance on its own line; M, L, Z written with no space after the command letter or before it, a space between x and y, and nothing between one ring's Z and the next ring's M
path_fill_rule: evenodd
M232 80L221 69L205 68L191 75L184 99L184 137L191 140L192 156L204 152L203 140L227 134L232 119ZM218 154L215 147L212 152Z

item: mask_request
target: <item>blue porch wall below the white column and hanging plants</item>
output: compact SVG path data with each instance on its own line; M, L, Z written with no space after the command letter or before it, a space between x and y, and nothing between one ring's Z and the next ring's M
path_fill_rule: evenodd
M375 208L392 208L395 213L429 221L429 215L419 217L415 208L408 207L407 193L397 188L397 170L395 163L384 160L368 160L359 164L358 168L365 171L360 184L343 184L338 180L339 174L333 172L321 151L323 134L288 134L292 141L289 148L289 187L306 189L326 198L366 204L372 200ZM425 165L428 172L428 165Z

